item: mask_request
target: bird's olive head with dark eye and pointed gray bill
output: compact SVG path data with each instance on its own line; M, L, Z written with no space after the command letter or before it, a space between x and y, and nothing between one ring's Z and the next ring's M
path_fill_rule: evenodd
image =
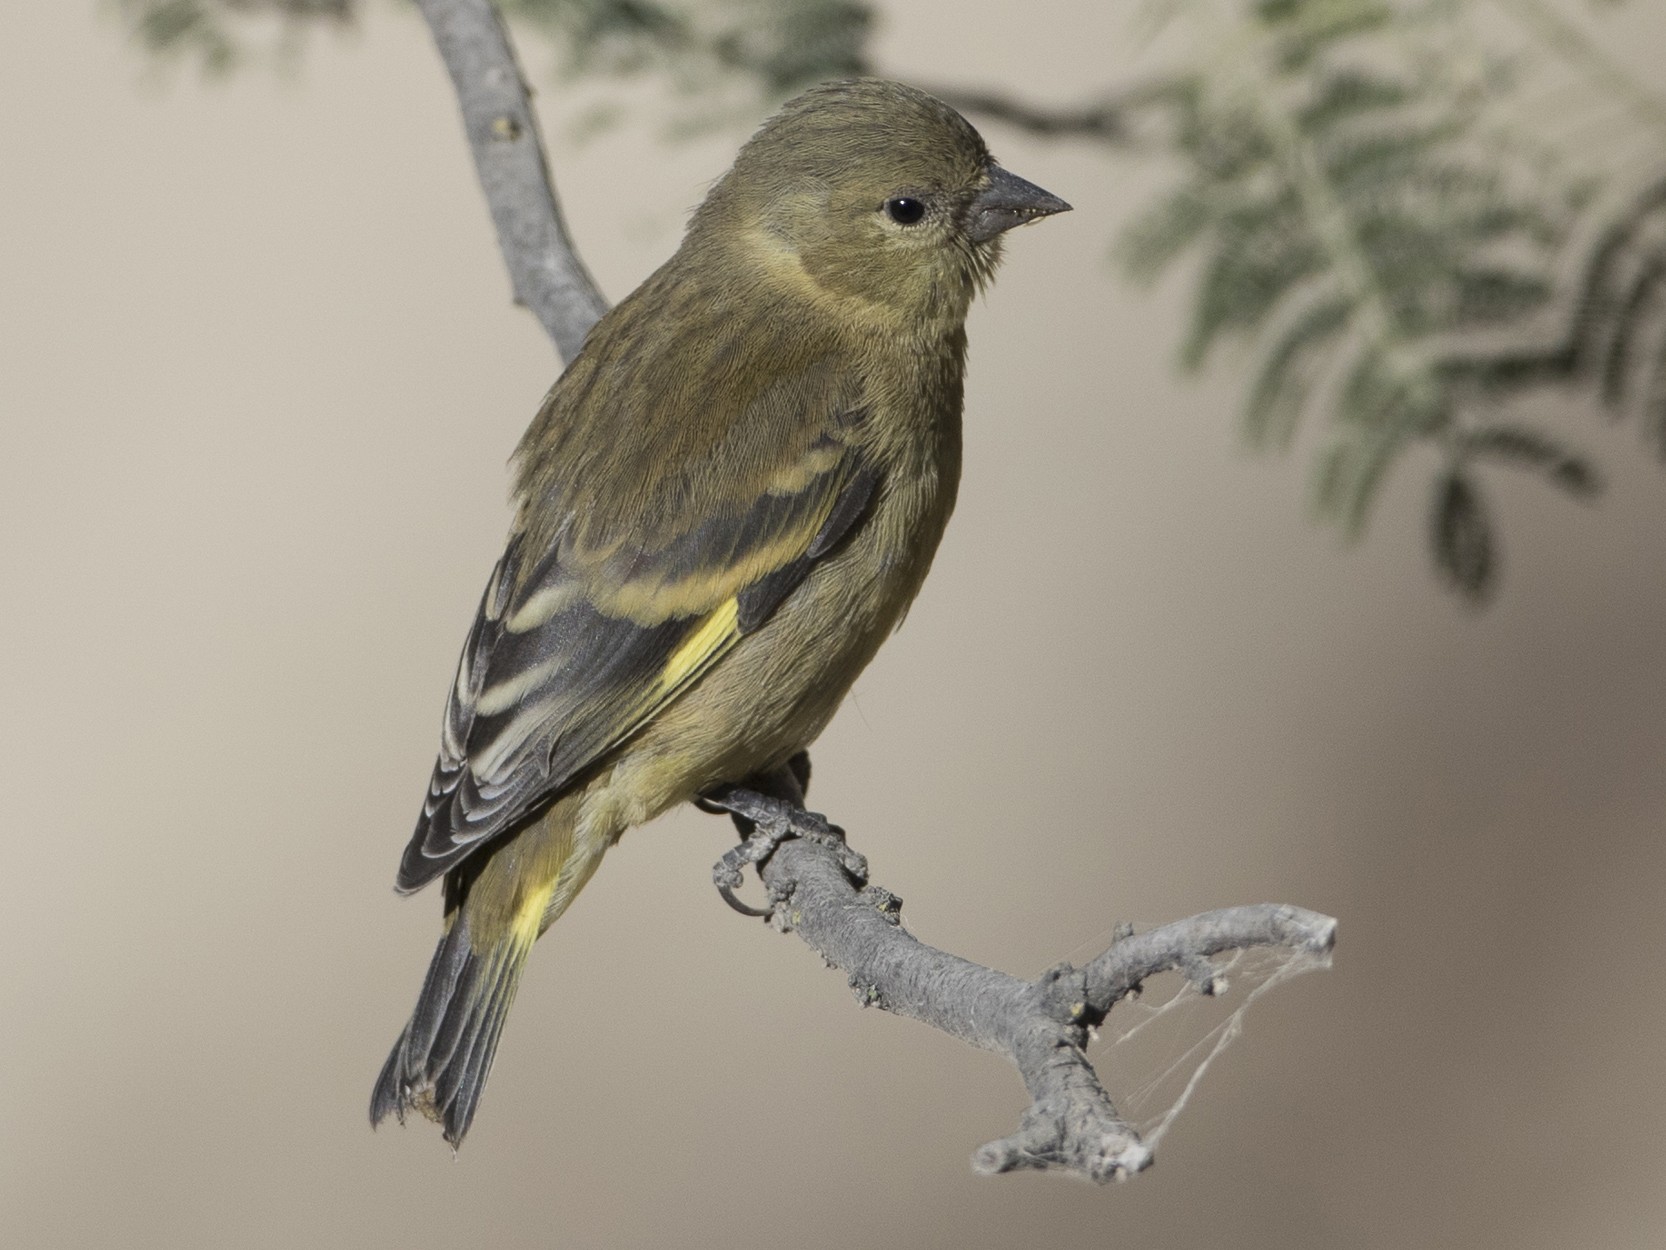
M856 78L791 100L741 148L690 225L845 318L958 325L1015 225L1068 210L1008 173L971 123L903 83Z

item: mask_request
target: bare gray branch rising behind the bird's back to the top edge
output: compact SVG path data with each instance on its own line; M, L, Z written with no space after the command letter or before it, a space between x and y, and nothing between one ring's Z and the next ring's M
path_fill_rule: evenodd
M515 298L571 360L608 302L568 238L508 32L488 0L416 0L416 7L451 73Z

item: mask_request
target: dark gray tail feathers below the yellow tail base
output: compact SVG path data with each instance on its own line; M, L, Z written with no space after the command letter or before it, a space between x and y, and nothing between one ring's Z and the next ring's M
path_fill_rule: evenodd
M475 1118L536 930L510 932L476 952L465 912L453 917L433 952L416 1010L377 1077L370 1123L390 1113L405 1123L405 1112L416 1110L443 1125L455 1147Z

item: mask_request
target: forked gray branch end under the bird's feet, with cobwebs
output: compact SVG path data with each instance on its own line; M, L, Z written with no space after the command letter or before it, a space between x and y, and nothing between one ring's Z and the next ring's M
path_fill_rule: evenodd
M901 925L901 902L863 885L866 862L801 802L788 775L761 782L760 790L711 795L710 805L731 812L748 835L741 853L718 865L718 880L733 880L741 860L761 860L775 925L845 972L860 1003L1013 1062L1033 1102L1016 1133L973 1155L973 1168L986 1175L1036 1168L1103 1183L1143 1172L1151 1148L1116 1112L1088 1062L1091 1030L1160 973L1181 972L1200 992L1215 993L1211 955L1278 947L1323 957L1336 942L1336 922L1318 912L1230 907L1140 935L1120 932L1083 968L1060 963L1033 982L1020 980L915 938Z

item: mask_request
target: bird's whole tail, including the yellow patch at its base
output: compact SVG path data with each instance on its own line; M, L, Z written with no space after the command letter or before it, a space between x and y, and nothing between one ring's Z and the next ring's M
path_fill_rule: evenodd
M606 840L575 845L575 803L465 862L446 878L445 933L433 952L416 1010L382 1065L370 1123L415 1110L460 1145L491 1072L521 968L548 928L596 870Z

